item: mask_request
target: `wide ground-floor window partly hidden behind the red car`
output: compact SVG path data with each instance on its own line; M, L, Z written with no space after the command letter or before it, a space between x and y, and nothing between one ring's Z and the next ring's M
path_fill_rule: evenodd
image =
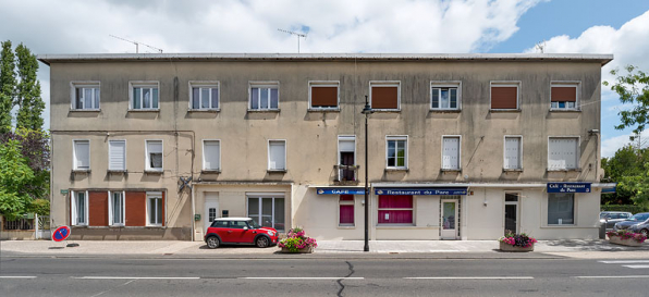
M284 231L284 197L273 195L248 196L248 218L261 226Z

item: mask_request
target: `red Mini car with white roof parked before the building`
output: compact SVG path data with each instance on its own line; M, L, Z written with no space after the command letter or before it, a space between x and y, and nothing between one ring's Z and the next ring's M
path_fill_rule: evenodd
M221 245L255 245L260 248L278 244L278 231L262 227L250 218L219 218L207 228L208 248Z

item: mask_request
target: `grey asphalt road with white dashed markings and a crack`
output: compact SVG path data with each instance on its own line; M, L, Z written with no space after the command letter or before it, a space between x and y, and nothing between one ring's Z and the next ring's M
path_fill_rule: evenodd
M0 296L648 296L649 257L0 259Z

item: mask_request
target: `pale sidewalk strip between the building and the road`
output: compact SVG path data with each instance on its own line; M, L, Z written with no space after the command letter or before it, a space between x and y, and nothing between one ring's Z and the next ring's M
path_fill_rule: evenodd
M78 247L51 240L0 242L2 257L164 257L164 258L581 258L649 259L649 244L641 247L611 245L605 240L540 240L534 252L501 252L497 240L374 240L363 252L363 240L320 240L311 255L279 253L279 248L222 246L208 249L203 242L96 242L70 240Z

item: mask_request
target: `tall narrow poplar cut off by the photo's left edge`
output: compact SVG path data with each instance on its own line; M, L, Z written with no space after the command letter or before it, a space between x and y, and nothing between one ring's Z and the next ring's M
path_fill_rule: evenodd
M15 58L11 41L1 42L0 51L0 133L11 131L11 110L15 96Z

